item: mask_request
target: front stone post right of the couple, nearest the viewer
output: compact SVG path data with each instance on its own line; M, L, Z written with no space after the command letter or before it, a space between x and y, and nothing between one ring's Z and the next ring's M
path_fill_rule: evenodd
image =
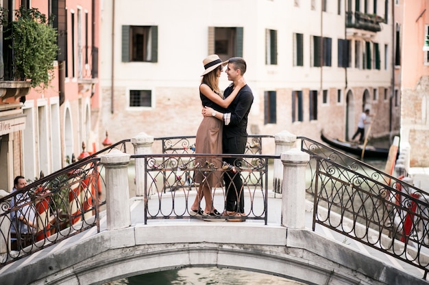
M280 155L283 163L282 226L305 228L306 168L310 155L297 148Z

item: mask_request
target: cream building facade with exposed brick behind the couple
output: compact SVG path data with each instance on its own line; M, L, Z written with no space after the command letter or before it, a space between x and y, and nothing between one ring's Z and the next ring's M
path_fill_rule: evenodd
M195 135L212 53L247 62L249 133L351 139L367 108L371 136L398 133L392 1L103 1L99 135Z

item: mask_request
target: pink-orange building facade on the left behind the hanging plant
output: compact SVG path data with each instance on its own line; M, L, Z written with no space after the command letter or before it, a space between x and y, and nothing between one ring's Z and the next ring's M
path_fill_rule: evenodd
M0 81L0 189L10 191L14 176L34 180L50 174L78 157L82 143L92 151L92 111L98 105L99 1L33 0L1 1L10 21L19 7L32 9L53 19L58 29L58 56L51 83L31 88L16 77ZM7 59L7 35L1 37L5 70L13 65ZM4 70L3 70L4 72ZM3 73L4 74L4 73ZM5 175L4 175L5 174Z

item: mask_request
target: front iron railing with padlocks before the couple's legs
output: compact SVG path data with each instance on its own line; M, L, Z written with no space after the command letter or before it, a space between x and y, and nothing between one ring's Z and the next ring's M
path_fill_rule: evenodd
M267 172L269 159L280 157L263 156L258 154L152 154L132 155L134 159L145 160L145 223L148 219L189 219L190 209L199 183L194 177L201 175L203 181L210 176L217 177L216 181L223 182L223 178L230 180L241 178L243 189L232 184L230 190L225 185L212 189L212 206L223 213L225 211L226 196L235 193L238 199L245 200L245 215L242 219L262 219L267 224ZM221 158L233 159L229 165ZM215 165L219 163L221 167ZM186 187L184 187L186 185ZM253 203L256 197L263 200L262 206ZM260 204L260 203L258 203ZM230 216L223 214L218 217L195 217L197 219L227 219Z

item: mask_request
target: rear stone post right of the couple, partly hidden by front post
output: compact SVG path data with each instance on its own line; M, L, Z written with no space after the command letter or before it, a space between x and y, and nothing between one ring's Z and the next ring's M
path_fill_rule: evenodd
M297 141L297 136L289 133L288 131L282 131L274 135L274 141L275 155L280 155L293 148ZM282 193L283 165L280 159L274 159L273 176L273 191L275 193Z

